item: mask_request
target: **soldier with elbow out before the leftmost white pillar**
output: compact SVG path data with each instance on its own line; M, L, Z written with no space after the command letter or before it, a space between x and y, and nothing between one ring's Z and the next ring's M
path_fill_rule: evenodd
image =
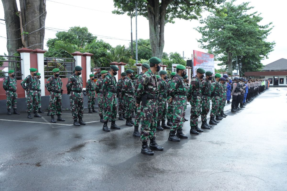
M31 111L34 111L34 117L42 117L38 114L38 92L37 92L37 69L30 68L30 75L27 76L22 82L21 86L26 90L26 103L27 103L27 113L28 118L32 119ZM26 85L25 85L26 84Z

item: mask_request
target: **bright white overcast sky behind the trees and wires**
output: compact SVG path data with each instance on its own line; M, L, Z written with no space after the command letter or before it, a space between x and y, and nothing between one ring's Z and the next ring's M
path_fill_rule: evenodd
M18 0L17 0L18 1ZM52 2L55 1L55 2ZM58 2L58 3L56 3ZM237 0L236 3L246 1ZM266 2L266 3L265 3ZM268 4L267 4L268 2ZM274 29L268 36L268 41L276 42L274 51L269 54L269 59L262 60L264 65L274 62L280 58L287 58L286 43L286 10L279 0L262 1L251 0L250 6L255 8L253 12L262 13L264 18L262 23L267 24L273 22ZM65 4L69 5L65 5ZM283 3L284 4L284 3ZM74 6L70 6L74 5ZM79 6L79 7L75 7ZM80 8L85 7L85 8ZM18 6L18 9L19 6ZM94 9L94 10L91 10ZM113 0L47 0L46 1L46 27L56 28L56 31L45 30L44 49L47 49L46 42L49 38L55 38L58 29L68 30L72 26L88 27L89 32L98 36L112 46L126 45L131 40L131 19L127 15L112 14L115 8ZM3 5L0 3L0 18L4 19ZM4 23L4 21L0 21ZM133 40L135 40L135 18L133 22ZM148 20L142 16L137 19L137 38L149 38ZM284 24L285 23L285 24ZM191 57L193 50L205 51L199 48L199 39L201 35L193 28L199 26L199 21L185 21L175 19L175 23L167 23L164 30L164 52L179 52L181 55L184 51L185 57ZM5 25L0 24L0 36L6 37ZM115 38L122 39L116 40ZM7 53L6 39L0 38L0 54ZM218 67L216 67L218 68Z

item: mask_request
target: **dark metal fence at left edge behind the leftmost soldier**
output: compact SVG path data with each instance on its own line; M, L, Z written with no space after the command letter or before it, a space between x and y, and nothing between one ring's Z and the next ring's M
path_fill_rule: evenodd
M0 56L0 78L8 76L9 70L14 70L15 78L22 79L21 56Z

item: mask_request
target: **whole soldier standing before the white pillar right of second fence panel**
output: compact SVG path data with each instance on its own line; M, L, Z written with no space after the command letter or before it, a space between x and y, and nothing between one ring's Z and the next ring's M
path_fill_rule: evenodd
M81 66L75 67L75 73L68 79L66 85L68 95L70 94L70 106L75 126L86 125L83 121L84 117L84 100L83 100L83 80L80 76L83 68ZM78 122L79 119L79 122Z

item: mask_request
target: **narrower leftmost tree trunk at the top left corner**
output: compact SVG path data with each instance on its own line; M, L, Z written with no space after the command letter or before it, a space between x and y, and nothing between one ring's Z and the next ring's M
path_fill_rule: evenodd
M16 53L17 49L23 46L21 42L20 18L16 14L18 12L18 7L16 0L2 0L2 3L6 23L7 51L9 56L13 56L12 54Z

